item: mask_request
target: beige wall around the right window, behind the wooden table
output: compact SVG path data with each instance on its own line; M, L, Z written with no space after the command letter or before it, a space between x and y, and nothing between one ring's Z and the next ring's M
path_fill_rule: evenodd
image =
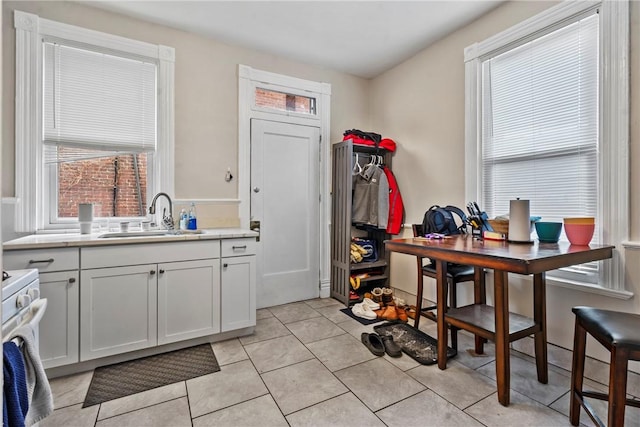
M433 204L465 206L464 200L464 62L463 50L556 4L516 1L505 3L470 25L443 38L413 58L373 79L373 123L379 133L399 145L394 170L406 203L406 223L421 222ZM640 3L631 4L631 236L640 240ZM636 166L634 168L634 165ZM406 230L411 235L411 230ZM624 248L618 248L624 250ZM640 251L627 250L626 288L640 293ZM415 258L392 255L391 284L415 295ZM488 278L492 283L492 277ZM512 277L510 307L530 315L531 281ZM520 279L520 280L518 280ZM491 288L491 286L489 286ZM467 297L471 299L467 291ZM491 293L491 292L490 292ZM425 296L435 299L435 286L425 286ZM640 299L620 300L555 286L547 287L549 341L573 346L573 314L576 305L593 305L640 313ZM591 346L596 349L597 346ZM600 358L606 354L593 350Z

